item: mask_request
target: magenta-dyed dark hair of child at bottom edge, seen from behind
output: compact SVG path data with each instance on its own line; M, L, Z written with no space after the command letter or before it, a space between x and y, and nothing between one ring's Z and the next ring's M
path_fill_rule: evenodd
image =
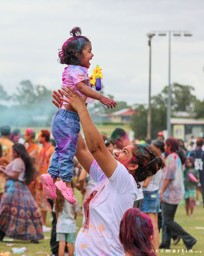
M150 237L153 235L151 219L138 208L126 210L120 222L119 238L124 250L132 256L155 256Z

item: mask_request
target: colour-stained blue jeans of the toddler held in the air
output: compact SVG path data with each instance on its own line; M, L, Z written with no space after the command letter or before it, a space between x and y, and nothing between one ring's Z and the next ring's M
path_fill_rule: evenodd
M52 118L52 135L57 143L47 170L54 177L71 181L73 177L74 155L80 132L78 113L60 108Z

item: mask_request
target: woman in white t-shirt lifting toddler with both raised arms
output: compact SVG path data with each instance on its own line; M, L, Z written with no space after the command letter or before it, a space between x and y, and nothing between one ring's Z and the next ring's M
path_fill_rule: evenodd
M140 187L137 183L155 174L162 166L162 159L139 144L126 146L115 152L113 158L91 120L85 97L80 97L69 86L67 88L70 91L63 90L69 95L64 95L79 114L88 147L79 134L76 157L90 178L96 181L83 203L84 219L75 242L76 256L124 256L119 241L120 221L125 211L133 206L137 187ZM62 97L54 93L60 98L54 97L61 105Z

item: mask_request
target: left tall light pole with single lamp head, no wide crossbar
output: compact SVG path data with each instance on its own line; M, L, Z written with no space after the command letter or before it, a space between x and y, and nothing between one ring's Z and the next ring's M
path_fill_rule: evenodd
M151 53L151 39L153 36L155 36L155 34L153 33L149 33L147 34L149 41L148 41L148 45L149 45L149 108L148 108L148 113L147 113L147 139L151 139L151 116L152 116L152 106L151 106L151 57L152 57L152 53Z

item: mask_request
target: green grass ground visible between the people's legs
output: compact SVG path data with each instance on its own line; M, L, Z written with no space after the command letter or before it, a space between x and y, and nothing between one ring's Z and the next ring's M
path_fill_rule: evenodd
M82 198L79 191L75 191L76 197L81 205ZM51 215L47 216L47 226L51 226L51 220L49 220ZM77 234L79 232L80 226L83 221L83 216L81 213L78 214L77 217ZM177 245L171 245L171 252L166 252L165 250L162 252L160 251L159 255L164 256L181 256L181 255L204 255L204 208L200 206L196 206L194 209L194 217L186 216L184 206L179 206L176 212L175 221L178 222L183 229L185 229L189 234L194 236L198 242L194 245L192 252L186 252L185 245L183 244L182 239ZM160 232L161 233L161 232ZM34 256L34 255L51 255L50 251L50 232L44 234L45 239L41 240L39 244L30 244L28 241L2 241L0 242L0 252L11 251L12 247L27 247L27 252L24 255L27 256ZM161 234L160 234L161 235ZM16 245L10 247L7 246L8 243L16 243ZM183 249L183 252L182 252ZM173 251L175 250L175 252ZM180 250L180 251L179 251ZM1 255L1 254L0 254ZM17 256L19 254L13 254L11 252L10 256ZM88 256L88 255L85 255ZM119 256L119 255L117 255Z

